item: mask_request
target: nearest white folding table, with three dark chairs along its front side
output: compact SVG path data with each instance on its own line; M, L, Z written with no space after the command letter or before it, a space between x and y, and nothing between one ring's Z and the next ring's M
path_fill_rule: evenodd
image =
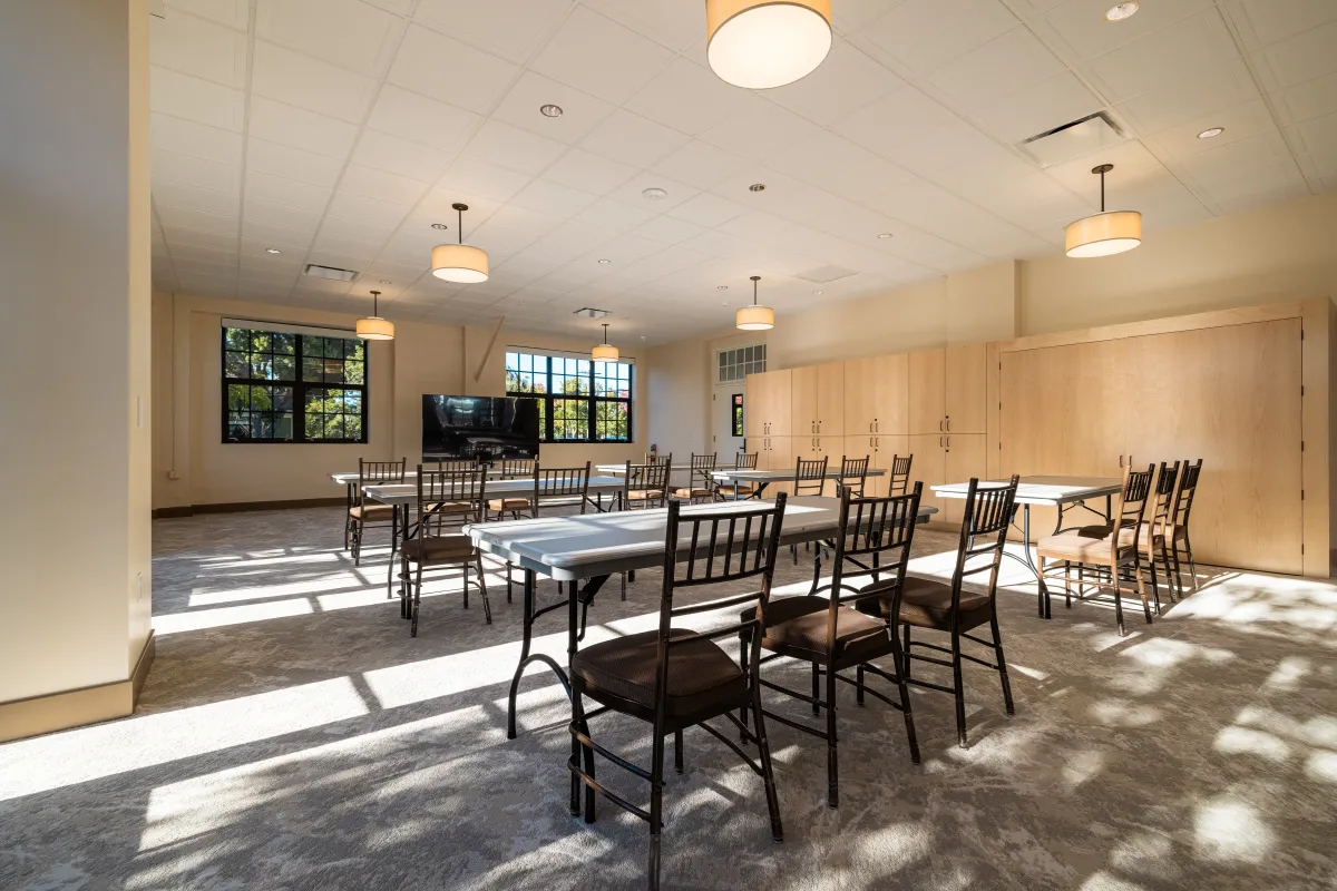
M755 501L685 505L682 516L721 512L747 513L757 510L757 506ZM935 513L937 513L937 508L921 506L919 522L928 522ZM838 498L790 498L785 505L779 542L781 545L793 545L821 541L836 532L838 525ZM529 652L533 620L560 609L563 605L567 608L567 665L570 667L571 656L575 655L576 645L584 636L583 616L594 596L612 574L662 566L667 526L668 510L659 508L512 520L475 524L465 528L479 549L524 570L524 644L520 648L520 664L511 680L507 707L507 735L511 739L515 739L516 735L515 699L520 688L520 677L532 663L543 663L552 669L567 695L571 695L567 671L558 665L551 656ZM687 558L691 549L686 534L679 546L682 560ZM566 598L535 609L535 576L537 573L556 581L571 582L564 585Z

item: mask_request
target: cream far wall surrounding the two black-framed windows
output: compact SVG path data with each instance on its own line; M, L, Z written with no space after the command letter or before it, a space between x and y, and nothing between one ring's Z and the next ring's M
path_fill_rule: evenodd
M152 506L185 508L249 501L299 501L342 494L329 474L357 469L358 456L417 464L422 441L422 394L499 395L505 391L509 345L588 351L571 338L493 327L400 322L394 341L372 342L366 445L225 443L221 437L219 329L223 318L353 329L356 317L290 306L154 294ZM622 462L644 449L646 383L636 375L636 442L544 445L555 466Z

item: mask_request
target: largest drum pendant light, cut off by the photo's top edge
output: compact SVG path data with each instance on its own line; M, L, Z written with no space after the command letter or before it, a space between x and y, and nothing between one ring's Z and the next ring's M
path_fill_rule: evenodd
M706 59L725 83L783 87L816 71L830 48L830 0L706 0Z

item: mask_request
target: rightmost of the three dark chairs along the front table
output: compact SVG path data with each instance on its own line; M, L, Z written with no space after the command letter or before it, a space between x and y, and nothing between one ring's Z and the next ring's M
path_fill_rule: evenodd
M917 486L919 484L916 484ZM905 683L944 693L956 699L956 741L965 748L965 688L961 680L961 661L972 661L999 673L1003 684L1003 705L1008 715L1015 713L1012 705L1012 684L1007 677L1007 660L1003 656L1003 637L999 633L999 614L995 596L997 594L999 565L1003 562L1003 546L1007 542L1008 524L1016 502L1017 477L1005 485L980 486L972 478L965 494L965 509L961 517L961 541L956 549L956 568L952 581L941 582L928 578L906 578L900 602L886 598L878 601L884 614L896 609L905 636L902 651L905 657ZM965 590L965 580L971 576L988 573L988 589L984 592ZM976 637L969 632L988 625L993 640ZM951 645L941 647L912 640L910 629L936 631L951 636ZM995 663L988 663L961 652L961 641L988 647L993 651ZM915 648L947 653L951 660L925 656ZM952 669L952 685L933 684L912 676L910 663L920 660Z

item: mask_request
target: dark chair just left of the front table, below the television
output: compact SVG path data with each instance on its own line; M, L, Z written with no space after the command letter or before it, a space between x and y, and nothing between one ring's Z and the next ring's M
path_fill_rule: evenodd
M400 549L401 590L406 602L401 614L412 618L409 636L417 637L418 606L422 601L422 570L427 568L456 568L464 570L464 608L469 608L469 570L479 573L477 588L483 594L483 616L492 624L492 604L483 574L483 553L473 546L469 536L428 534L432 520L449 517L464 522L483 522L483 504L487 470L475 465L473 470L424 470L418 465L418 521L408 541ZM412 572L410 572L412 566Z

